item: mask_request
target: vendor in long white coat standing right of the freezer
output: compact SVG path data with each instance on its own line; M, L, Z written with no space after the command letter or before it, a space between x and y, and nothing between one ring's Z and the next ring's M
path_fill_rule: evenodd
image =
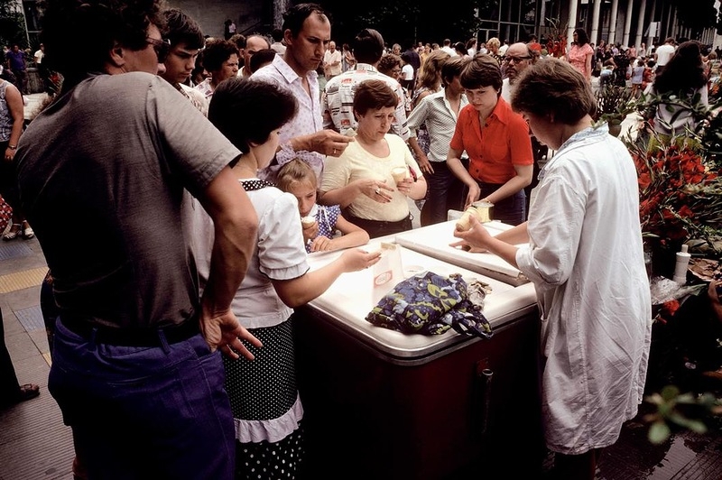
M512 97L556 154L540 174L529 221L492 237L473 220L456 245L486 249L536 288L542 315L542 417L559 478L594 478L600 449L643 398L652 313L634 162L568 63L523 72ZM522 245L523 246L515 246Z

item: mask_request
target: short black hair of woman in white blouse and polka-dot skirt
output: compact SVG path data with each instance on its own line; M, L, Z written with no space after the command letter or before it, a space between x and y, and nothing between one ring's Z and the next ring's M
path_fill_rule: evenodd
M228 78L218 84L208 106L208 120L241 152L264 143L273 130L296 115L292 93L274 83Z

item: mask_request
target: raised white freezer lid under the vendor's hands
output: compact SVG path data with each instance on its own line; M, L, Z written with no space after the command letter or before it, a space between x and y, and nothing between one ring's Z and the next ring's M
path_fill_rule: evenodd
M498 221L487 222L483 225L491 235L498 235L504 230L512 228L512 226ZM458 238L454 236L455 226L456 220L422 226L397 234L395 241L399 245L421 254L427 254L510 285L516 286L529 282L519 269L506 263L495 254L472 254L450 246L450 244L458 242Z

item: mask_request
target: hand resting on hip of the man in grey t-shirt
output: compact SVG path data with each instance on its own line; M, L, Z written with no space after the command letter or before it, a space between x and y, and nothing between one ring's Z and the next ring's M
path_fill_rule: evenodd
M238 353L249 360L254 359L254 355L248 351L241 340L246 340L253 346L264 346L261 340L251 335L240 324L230 309L215 315L207 315L204 312L200 318L200 332L206 338L211 352L220 348L221 352L233 359L239 357Z

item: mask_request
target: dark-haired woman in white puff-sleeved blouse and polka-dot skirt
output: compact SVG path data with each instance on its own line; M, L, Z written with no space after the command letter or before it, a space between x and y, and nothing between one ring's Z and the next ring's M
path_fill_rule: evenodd
M273 84L229 78L218 84L208 119L242 152L233 171L258 216L257 248L231 304L234 314L264 346L248 346L254 360L224 356L226 390L236 422L236 478L299 475L303 408L293 364L293 308L318 297L343 272L376 263L379 254L348 250L334 262L309 272L298 202L259 180L256 172L273 159L279 129L295 115L291 93ZM199 275L208 278L213 226L200 208L191 242L199 251ZM211 242L208 244L208 242ZM264 473L265 472L265 473ZM279 474L280 475L280 474Z

